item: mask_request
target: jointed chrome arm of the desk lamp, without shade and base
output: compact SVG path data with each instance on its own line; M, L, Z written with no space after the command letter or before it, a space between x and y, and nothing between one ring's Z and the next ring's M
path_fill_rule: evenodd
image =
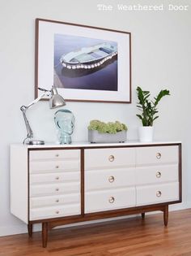
M27 132L28 132L28 135L27 137L23 140L23 144L25 143L26 140L28 139L32 139L33 138L33 132L32 132L32 128L28 122L28 118L27 118L27 115L26 115L26 111L31 107L33 106L34 104L36 104L36 102L39 102L41 98L44 98L45 95L49 96L49 93L50 91L45 91L45 93L42 93L38 98L36 98L33 102L31 102L30 104L28 104L28 106L21 106L20 107L20 110L22 111L23 113L23 119L24 119L24 123L25 123L25 126L27 128Z

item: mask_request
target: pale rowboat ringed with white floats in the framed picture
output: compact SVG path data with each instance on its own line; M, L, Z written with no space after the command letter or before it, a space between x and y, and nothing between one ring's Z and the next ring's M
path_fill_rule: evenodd
M96 46L87 46L79 50L63 54L60 62L68 69L91 69L100 67L103 63L117 55L117 46L103 42Z

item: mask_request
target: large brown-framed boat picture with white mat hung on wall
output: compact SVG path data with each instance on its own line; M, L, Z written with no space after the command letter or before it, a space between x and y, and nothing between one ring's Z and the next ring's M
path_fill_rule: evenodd
M66 101L131 102L131 34L36 19L35 92L57 87Z

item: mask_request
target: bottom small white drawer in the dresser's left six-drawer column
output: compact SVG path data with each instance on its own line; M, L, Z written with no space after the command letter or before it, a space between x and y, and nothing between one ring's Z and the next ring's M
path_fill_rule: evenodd
M79 204L67 206L55 206L36 208L30 210L30 220L59 218L69 215L80 215L81 209Z

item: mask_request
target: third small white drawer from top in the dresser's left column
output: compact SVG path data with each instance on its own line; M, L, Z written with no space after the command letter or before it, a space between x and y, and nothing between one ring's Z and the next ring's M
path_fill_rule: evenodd
M58 183L71 181L80 181L79 171L54 172L30 175L30 184Z

